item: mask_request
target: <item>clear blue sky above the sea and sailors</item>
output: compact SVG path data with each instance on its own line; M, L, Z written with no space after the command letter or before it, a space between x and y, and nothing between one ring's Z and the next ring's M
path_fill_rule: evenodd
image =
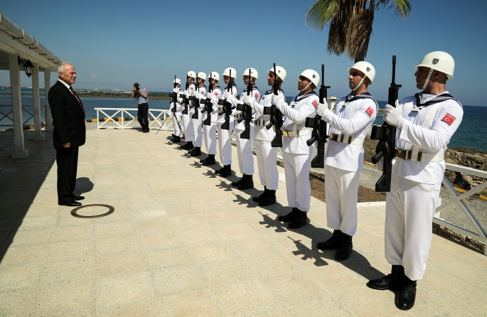
M151 91L168 91L174 75L190 70L237 70L235 82L243 91L242 71L255 68L261 92L267 70L276 63L287 70L287 96L299 93L300 72L325 65L328 96L347 95L346 55L326 51L328 28L311 31L304 23L306 9L316 0L300 1L3 1L1 13L36 38L61 60L73 63L76 89L132 90L133 83ZM387 100L392 55L397 55L396 83L400 99L417 90L414 66L424 55L443 50L455 60L454 78L446 88L462 104L487 106L481 92L487 74L487 1L410 0L410 18L392 9L375 11L373 35L366 61L376 70L369 92ZM51 77L54 81L55 73ZM220 81L222 85L223 77ZM0 71L0 85L9 85L9 72ZM22 72L21 85L31 80ZM43 76L41 76L41 86ZM150 100L150 94L149 94Z

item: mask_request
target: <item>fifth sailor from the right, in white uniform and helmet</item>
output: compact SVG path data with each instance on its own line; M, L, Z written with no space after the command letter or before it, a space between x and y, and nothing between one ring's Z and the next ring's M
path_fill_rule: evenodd
M249 80L252 85L252 91L249 92L248 95L255 101L259 100L260 92L257 86L255 86L255 80L259 77L257 70L254 68L247 68L243 72L242 77L245 85L248 85ZM228 96L227 101L234 106L237 106L237 104L244 103L245 96L247 96L247 90L248 88L245 88L244 92L242 92L240 100L230 96L230 92L225 92L225 97ZM252 114L250 122L250 138L242 139L241 134L245 130L245 120L240 121L240 119L243 118L243 112L235 111L235 143L237 144L238 167L240 168L240 173L242 173L242 178L240 178L239 181L233 182L232 186L235 186L240 190L254 188L254 181L252 180L252 176L254 175L254 156L252 154L252 141L254 139L253 117L254 115Z

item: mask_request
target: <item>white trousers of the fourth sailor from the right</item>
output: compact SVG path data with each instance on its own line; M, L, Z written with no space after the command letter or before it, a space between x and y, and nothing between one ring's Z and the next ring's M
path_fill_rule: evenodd
M271 146L271 141L255 139L255 154L257 154L260 184L269 190L277 190L279 184L277 148Z

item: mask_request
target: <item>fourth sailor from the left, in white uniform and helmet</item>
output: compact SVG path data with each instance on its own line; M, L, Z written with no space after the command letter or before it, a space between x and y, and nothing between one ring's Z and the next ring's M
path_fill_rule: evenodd
M208 91L208 93L206 94L206 100L208 100L207 103L211 102L212 111L208 112L208 110L206 110L201 118L203 122L203 138L205 140L206 151L208 152L208 157L200 161L200 163L203 163L203 166L209 166L216 163L216 121L218 119L217 107L218 100L223 97L222 90L220 89L220 86L218 86L218 80L220 80L220 75L218 75L218 72L210 72L210 76L208 77L210 91ZM207 105L208 107L205 109L210 109L209 104ZM205 124L205 120L208 119L208 116L210 116L209 125Z

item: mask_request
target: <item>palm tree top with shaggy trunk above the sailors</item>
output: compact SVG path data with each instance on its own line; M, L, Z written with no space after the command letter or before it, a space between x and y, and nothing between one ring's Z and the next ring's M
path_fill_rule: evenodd
M400 18L410 16L409 0L318 0L306 11L305 23L314 31L328 32L328 53L346 53L355 63L364 60L372 34L374 11L394 8Z

